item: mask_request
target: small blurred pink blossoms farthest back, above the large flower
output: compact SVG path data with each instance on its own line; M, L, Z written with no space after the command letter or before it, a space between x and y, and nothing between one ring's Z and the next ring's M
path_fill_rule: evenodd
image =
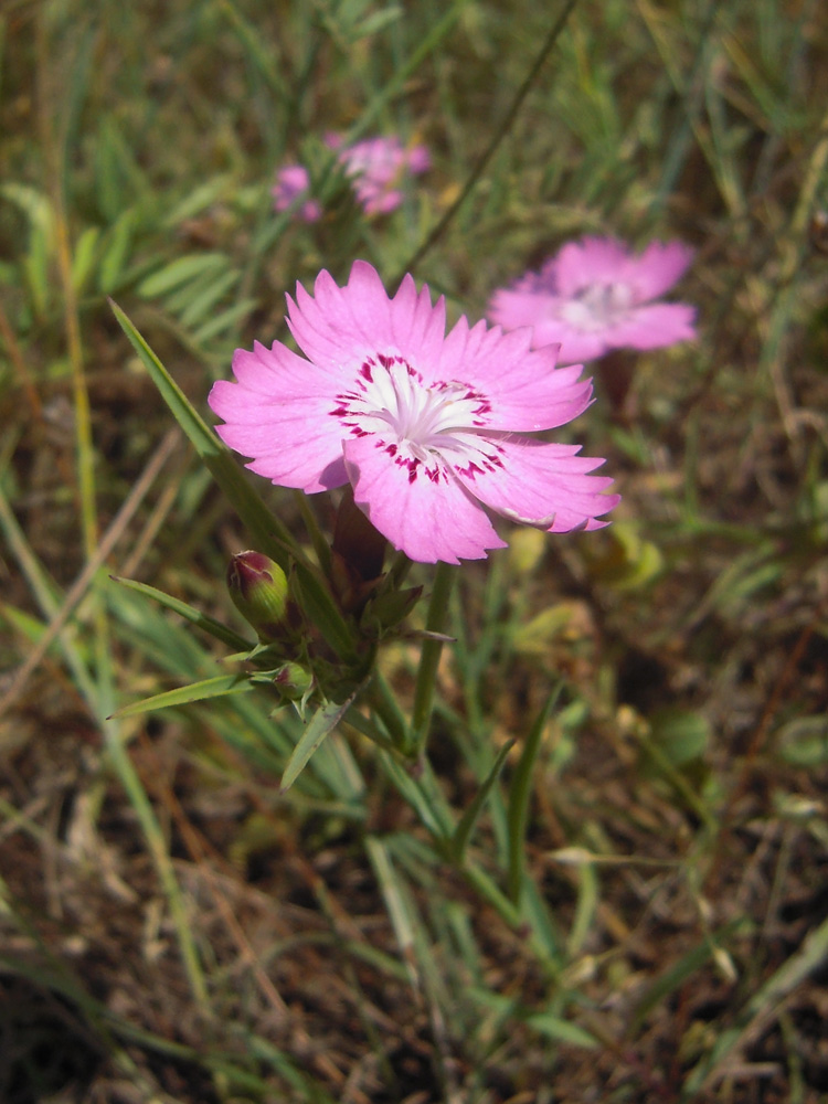
M406 148L396 137L365 138L346 146L342 137L328 134L325 144L339 151L342 171L350 180L365 214L388 214L400 206L403 193L400 182L406 172L420 174L431 166L425 146ZM302 164L288 164L276 173L272 192L277 211L286 211L310 190L310 177ZM298 206L299 217L316 222L322 209L318 200L308 198Z

